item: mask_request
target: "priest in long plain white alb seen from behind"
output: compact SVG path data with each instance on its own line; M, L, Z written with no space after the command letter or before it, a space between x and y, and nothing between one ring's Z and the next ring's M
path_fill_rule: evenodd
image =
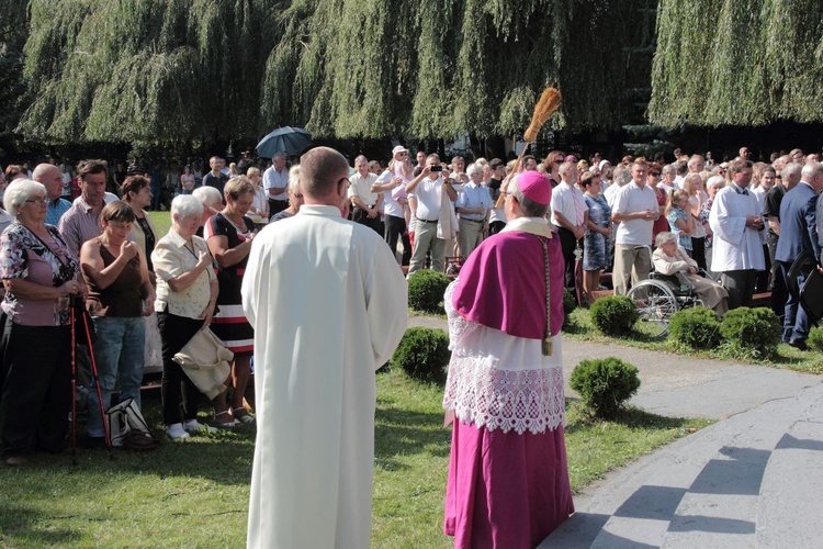
M407 287L371 228L340 216L349 166L301 157L305 204L251 247L257 441L248 547L369 547L375 371L403 337Z

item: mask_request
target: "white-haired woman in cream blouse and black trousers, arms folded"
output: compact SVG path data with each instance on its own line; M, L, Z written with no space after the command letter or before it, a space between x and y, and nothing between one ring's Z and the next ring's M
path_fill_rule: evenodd
M202 224L203 205L191 195L171 202L171 228L155 246L151 260L157 274L157 310L162 336L162 416L172 439L188 438L199 430L213 430L198 422L200 391L172 358L199 329L212 323L217 303L217 278L203 238L195 235ZM180 401L184 417L181 422ZM225 391L215 399L215 421L236 426L228 414Z

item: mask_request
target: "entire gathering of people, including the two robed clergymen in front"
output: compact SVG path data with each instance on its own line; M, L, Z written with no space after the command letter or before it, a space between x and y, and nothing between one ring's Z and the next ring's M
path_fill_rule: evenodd
M165 205L161 191L136 163L116 193L105 161L79 163L71 201L75 170L12 165L0 211L0 456L16 466L33 450L61 449L72 348L87 389L97 358L100 391L86 396L92 447L106 444L115 389L140 405L144 366L159 350L170 439L257 421L250 545L290 536L368 545L373 376L405 329L403 274L430 268L458 276L444 298L444 533L459 546L532 547L574 508L564 288L585 305L606 271L624 294L656 270L721 315L770 290L785 340L805 347L810 320L786 291L787 273L807 251L819 265L823 165L799 150L769 164L748 156L744 147L719 165L679 154L612 165L553 150L542 163L466 165L422 150L413 161L398 145L383 168L318 147L291 168L277 154L262 171L214 156L205 173L183 170L166 235L147 213ZM94 326L91 346L71 340L78 302ZM215 345L203 333L232 351L217 388L179 360L195 340ZM203 395L213 425L198 421ZM316 479L317 490L296 478ZM292 512L272 517L271 502Z

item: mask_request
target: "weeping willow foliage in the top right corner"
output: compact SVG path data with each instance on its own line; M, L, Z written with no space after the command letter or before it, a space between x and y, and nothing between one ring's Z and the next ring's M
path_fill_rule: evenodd
M649 116L674 127L823 122L820 0L661 0Z

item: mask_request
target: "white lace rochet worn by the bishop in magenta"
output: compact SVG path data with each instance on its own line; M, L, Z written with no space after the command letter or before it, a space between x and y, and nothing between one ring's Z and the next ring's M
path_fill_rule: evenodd
M449 376L443 408L463 423L518 434L543 433L563 423L563 360L560 335L544 357L539 339L515 337L461 317L446 291Z

